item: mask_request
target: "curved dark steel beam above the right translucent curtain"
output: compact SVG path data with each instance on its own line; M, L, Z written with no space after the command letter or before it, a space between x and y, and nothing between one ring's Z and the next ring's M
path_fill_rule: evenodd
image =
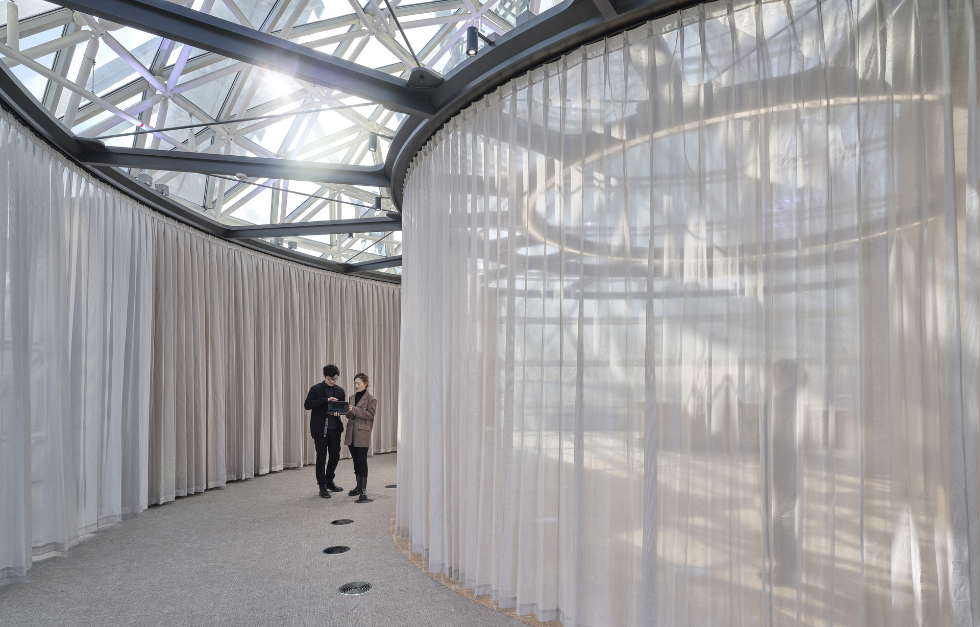
M565 0L497 38L494 45L482 48L431 90L432 116L410 116L402 121L385 159L395 205L402 206L405 176L418 151L470 103L586 43L697 4L697 0L619 0L614 4L617 15L607 19L595 0Z

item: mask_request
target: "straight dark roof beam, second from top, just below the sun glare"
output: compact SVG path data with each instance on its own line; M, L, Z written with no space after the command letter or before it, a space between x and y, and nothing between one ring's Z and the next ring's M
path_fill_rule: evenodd
M165 169L176 172L200 172L234 176L237 173L263 178L308 180L315 183L341 183L390 187L384 166L347 166L343 164L319 164L310 161L270 159L268 157L241 157L176 150L152 150L148 148L122 148L99 146L90 142L78 155L78 160L92 166L117 168Z

